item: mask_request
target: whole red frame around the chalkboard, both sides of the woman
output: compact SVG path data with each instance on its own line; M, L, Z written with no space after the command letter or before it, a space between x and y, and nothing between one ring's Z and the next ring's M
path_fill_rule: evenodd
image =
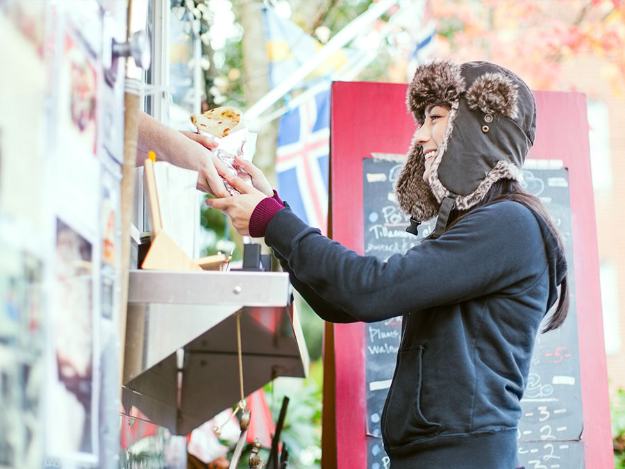
M415 122L406 85L335 82L331 95L333 238L363 253L363 165L372 152L405 154ZM599 261L590 178L585 96L536 92L538 126L528 158L560 159L569 169L587 468L612 467ZM363 324L335 326L338 469L367 466Z

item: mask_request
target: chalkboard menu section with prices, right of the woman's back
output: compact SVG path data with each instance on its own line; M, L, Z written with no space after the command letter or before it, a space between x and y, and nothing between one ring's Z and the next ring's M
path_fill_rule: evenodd
M519 422L519 459L527 469L585 467L569 177L565 168L524 167L526 190L547 206L565 243L569 314L562 327L536 338ZM546 320L549 319L547 314ZM541 327L543 327L542 324Z

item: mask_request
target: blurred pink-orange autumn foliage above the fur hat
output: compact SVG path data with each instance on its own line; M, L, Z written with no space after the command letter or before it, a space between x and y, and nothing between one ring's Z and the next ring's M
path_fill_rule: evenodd
M562 67L594 56L598 78L625 91L623 0L436 0L431 8L439 55L492 60L544 90L573 88Z

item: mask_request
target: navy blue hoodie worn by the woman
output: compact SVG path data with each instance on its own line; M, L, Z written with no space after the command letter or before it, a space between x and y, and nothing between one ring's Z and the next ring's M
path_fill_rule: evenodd
M325 238L285 208L265 242L324 320L403 315L382 416L393 469L519 465L519 401L539 324L566 273L540 217L499 201L383 262Z

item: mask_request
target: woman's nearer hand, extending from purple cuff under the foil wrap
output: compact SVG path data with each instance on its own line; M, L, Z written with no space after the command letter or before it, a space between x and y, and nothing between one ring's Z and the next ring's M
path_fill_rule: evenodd
M237 176L226 176L226 181L241 192L240 195L224 197L223 199L206 199L206 204L231 217L233 227L241 236L249 236L249 219L251 214L259 202L265 199L267 195L245 183Z

